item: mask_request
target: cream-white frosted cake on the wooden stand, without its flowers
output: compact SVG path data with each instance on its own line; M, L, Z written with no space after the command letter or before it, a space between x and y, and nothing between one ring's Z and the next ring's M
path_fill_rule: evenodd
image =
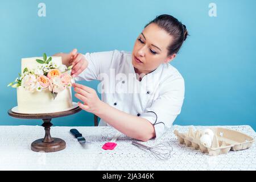
M42 63L38 63L36 59L43 60L43 57L30 57L22 59L22 73L25 68L29 71L35 71L38 67L42 67ZM62 65L61 57L53 56L51 63L55 66ZM47 66L46 66L47 67ZM45 69L44 69L45 70ZM61 73L62 75L62 73ZM39 76L36 76L38 79ZM44 78L47 78L46 75ZM23 78L24 79L24 78ZM61 82L63 84L63 82ZM26 114L55 113L65 111L72 107L71 85L65 87L61 92L57 93L54 98L48 88L39 88L40 92L31 92L23 85L17 87L18 111Z

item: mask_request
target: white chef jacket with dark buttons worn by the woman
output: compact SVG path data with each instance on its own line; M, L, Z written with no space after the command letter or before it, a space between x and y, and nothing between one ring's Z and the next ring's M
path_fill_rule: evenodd
M88 67L76 81L99 80L101 100L125 113L147 119L155 127L156 138L172 126L183 105L184 79L172 65L159 65L137 80L131 53L104 51L85 53ZM99 86L98 86L99 87ZM99 126L108 126L101 119Z

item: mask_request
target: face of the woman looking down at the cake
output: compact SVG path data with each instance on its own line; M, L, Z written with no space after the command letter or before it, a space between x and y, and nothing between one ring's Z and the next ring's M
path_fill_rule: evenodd
M132 63L137 73L147 74L160 64L173 60L176 54L167 56L167 47L171 42L172 36L155 23L144 28L135 41L132 53Z

